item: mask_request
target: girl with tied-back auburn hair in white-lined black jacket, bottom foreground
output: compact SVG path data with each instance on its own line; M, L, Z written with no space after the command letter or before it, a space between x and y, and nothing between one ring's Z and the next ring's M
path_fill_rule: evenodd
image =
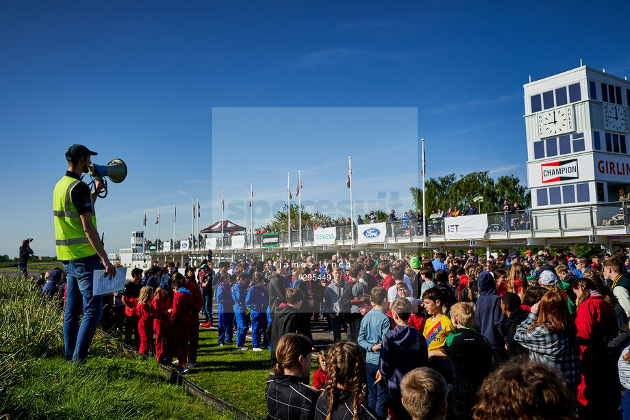
M312 345L300 334L284 334L276 347L277 363L267 380L269 419L312 419L318 391L308 386Z

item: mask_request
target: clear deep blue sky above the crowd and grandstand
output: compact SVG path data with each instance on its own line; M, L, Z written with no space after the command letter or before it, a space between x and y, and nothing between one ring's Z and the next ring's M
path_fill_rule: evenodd
M305 200L310 190L311 200L342 201L348 155L356 156L355 199L405 192L417 182L417 161L401 163L414 136L427 139L428 176L490 170L524 180L522 84L575 68L580 57L629 75L625 12L625 1L3 1L0 254L16 256L29 236L36 253L53 254L51 192L75 142L97 150L98 163L119 157L129 166L128 179L97 203L110 252L127 246L145 210L155 237L157 208L172 232L177 205L182 236L192 198L206 226L220 218L221 189L245 200L253 182L255 198L273 205L286 198L286 172L294 193L297 170L310 171ZM301 115L310 133L301 140L290 108L312 111ZM282 124L256 133L265 109ZM325 133L339 137L324 142ZM307 168L305 157L330 166Z

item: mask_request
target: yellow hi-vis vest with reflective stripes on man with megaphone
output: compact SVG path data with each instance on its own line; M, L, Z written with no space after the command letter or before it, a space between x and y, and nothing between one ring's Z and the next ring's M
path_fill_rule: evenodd
M71 199L72 189L82 182L66 175L55 185L53 215L55 245L59 260L90 257L97 253L86 236L77 207L73 205ZM92 223L94 223L94 227L97 226L94 203L92 203Z

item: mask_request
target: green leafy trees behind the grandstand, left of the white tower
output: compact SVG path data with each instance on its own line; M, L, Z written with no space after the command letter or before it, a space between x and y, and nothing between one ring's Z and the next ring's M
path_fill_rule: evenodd
M432 210L442 209L446 211L449 207L459 207L462 211L472 202L476 196L483 197L481 210L486 213L499 211L499 206L503 200L510 203L518 202L522 209L531 205L531 194L527 187L520 185L520 179L514 175L501 176L494 182L488 171L471 172L460 175L459 179L455 174L448 174L438 178L431 178L425 182L427 190L426 202L427 213ZM418 187L410 189L414 205L417 209L422 209L423 194Z

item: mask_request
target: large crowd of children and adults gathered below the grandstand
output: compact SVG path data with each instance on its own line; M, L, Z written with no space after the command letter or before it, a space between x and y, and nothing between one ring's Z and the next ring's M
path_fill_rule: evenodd
M154 262L105 298L103 326L181 373L197 363L200 326L239 351L251 331L252 351L271 350L270 419L613 419L630 415L630 393L620 397L630 386L629 263L472 249L223 261L216 271L212 261ZM31 280L63 302L64 277L55 267ZM322 324L334 343L309 382Z

